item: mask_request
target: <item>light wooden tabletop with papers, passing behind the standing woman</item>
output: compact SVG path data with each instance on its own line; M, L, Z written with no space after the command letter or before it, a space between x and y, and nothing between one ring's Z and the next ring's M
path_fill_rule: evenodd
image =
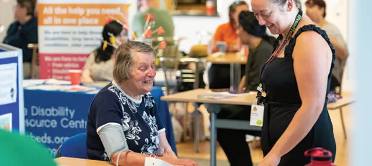
M207 95L207 94L216 94L218 92L211 92L209 89L193 89L185 92L170 94L162 96L161 100L173 101L173 102L198 102L198 103L213 103L213 104L234 104L234 105L252 105L254 103L256 94L250 92L246 95L238 94L232 98L226 99L206 99L199 98L198 95ZM228 95L228 92L224 93ZM234 95L234 94L230 94ZM343 98L337 100L335 103L330 103L327 105L329 110L339 109L346 105L352 104L355 102L351 93L344 93Z

